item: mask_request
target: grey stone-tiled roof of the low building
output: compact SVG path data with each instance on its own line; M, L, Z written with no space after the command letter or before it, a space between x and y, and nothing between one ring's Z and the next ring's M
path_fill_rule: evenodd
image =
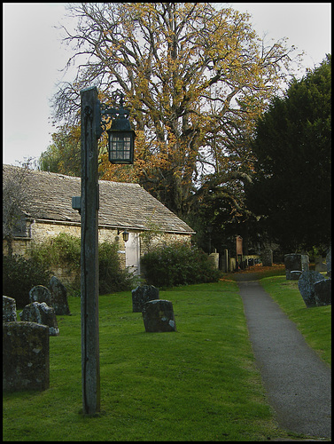
M3 165L3 180L18 168ZM29 197L24 210L32 218L81 221L79 212L72 208L72 197L81 195L81 178L29 170L26 189ZM142 231L155 224L168 233L194 233L190 226L137 184L99 180L99 194L99 225Z

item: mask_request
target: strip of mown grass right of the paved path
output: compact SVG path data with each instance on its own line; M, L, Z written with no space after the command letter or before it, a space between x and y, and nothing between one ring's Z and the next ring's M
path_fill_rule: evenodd
M307 308L298 281L286 281L285 275L263 278L260 284L296 323L307 344L331 365L331 305Z

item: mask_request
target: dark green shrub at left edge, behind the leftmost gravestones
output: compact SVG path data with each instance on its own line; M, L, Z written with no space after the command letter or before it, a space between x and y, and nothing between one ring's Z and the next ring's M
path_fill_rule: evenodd
M48 287L52 272L47 264L19 255L3 255L3 295L13 297L18 308L29 304L35 285Z

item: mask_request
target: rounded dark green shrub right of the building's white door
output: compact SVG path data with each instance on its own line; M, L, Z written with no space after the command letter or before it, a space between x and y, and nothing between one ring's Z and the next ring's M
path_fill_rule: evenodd
M220 273L203 250L187 243L156 247L142 258L144 277L155 287L218 281Z

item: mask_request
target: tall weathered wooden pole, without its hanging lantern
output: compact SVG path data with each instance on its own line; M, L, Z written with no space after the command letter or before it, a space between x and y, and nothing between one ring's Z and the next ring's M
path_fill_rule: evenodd
M100 411L98 338L97 88L81 91L82 119L82 404L84 414Z

